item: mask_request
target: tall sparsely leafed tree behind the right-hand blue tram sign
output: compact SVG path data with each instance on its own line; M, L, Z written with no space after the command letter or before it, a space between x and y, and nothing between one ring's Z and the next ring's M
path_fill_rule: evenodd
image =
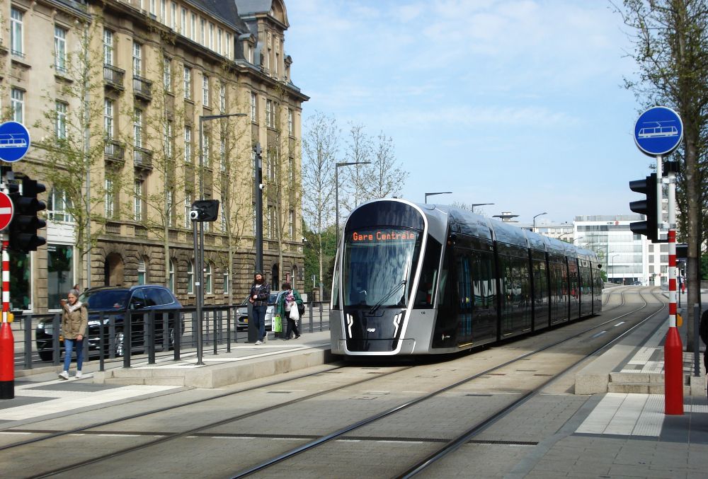
M708 4L706 0L624 0L617 7L632 28L636 81L625 80L646 106L668 105L683 120L678 198L681 236L688 243L688 304L696 304L700 288L698 264L704 239L706 147L708 140ZM694 335L688 308L687 350Z

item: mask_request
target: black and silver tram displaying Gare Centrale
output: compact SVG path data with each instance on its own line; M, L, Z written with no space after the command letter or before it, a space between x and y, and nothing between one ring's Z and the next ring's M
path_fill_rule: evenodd
M445 354L600 312L595 253L453 207L362 204L338 248L331 348Z

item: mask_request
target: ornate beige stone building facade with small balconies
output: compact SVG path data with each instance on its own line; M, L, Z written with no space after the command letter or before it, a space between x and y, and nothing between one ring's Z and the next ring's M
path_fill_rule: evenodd
M303 284L305 96L282 0L13 0L0 38L4 120L33 146L13 164L47 186L47 245L11 255L12 308L58 308L74 284L166 284L195 303L191 204L205 223L205 304L240 303L263 221L274 289ZM263 217L256 218L261 146Z

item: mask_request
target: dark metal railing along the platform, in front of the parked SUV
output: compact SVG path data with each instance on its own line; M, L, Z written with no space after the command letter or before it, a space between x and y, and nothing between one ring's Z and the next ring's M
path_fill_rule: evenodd
M329 302L309 302L306 306L298 321L299 330L303 333L329 330ZM231 352L233 344L248 342L248 325L239 322L239 307L205 306L202 309L205 352ZM15 314L12 331L16 369L58 366L62 362L61 319L61 313ZM105 370L106 362L121 359L122 367L131 367L133 360L148 364L158 359L179 361L183 354L196 349L197 329L193 306L149 311L89 310L84 360L98 359L99 371Z

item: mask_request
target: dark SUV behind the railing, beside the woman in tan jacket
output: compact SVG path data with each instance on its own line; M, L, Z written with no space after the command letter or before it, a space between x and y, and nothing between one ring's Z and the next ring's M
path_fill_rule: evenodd
M182 305L173 292L164 286L141 284L133 287L97 287L87 289L79 296L79 301L89 307L89 327L87 336L89 351L98 350L100 342L100 314L103 313L104 350L108 352L110 345L110 319L114 319L115 355L122 356L125 349L125 333L123 320L125 311L135 311L131 314L132 347L144 346L144 321L143 313L156 310L155 313L155 344L162 345L164 316L167 315L167 326L170 347L174 344L174 324L179 318ZM166 310L166 311L164 311ZM100 313L99 313L100 312ZM184 325L183 325L184 327ZM37 325L35 338L37 350L43 361L52 360L52 338L54 337L54 324L52 320L45 320ZM64 348L63 339L59 338L59 347Z

